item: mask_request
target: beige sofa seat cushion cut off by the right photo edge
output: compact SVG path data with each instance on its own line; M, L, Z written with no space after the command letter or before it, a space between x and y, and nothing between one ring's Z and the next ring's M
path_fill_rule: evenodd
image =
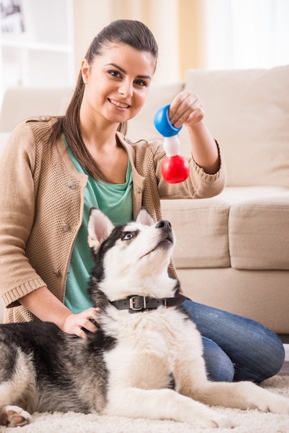
M289 270L289 189L226 188L231 266Z

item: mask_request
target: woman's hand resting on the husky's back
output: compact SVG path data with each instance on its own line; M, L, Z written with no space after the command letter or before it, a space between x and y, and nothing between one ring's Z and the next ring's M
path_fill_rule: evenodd
M99 308L88 308L78 314L69 314L64 321L62 331L77 335L80 338L87 338L87 331L97 332L97 312Z

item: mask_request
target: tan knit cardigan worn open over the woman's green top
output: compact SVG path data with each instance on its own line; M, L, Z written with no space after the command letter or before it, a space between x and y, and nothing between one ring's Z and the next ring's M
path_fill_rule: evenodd
M41 116L21 122L0 158L0 293L8 307L6 322L35 319L19 299L41 286L64 302L87 176L75 169L62 138L49 142L56 120ZM145 206L158 221L162 219L160 199L198 199L223 190L222 158L214 175L188 158L189 179L168 184L160 172L165 157L162 142L131 143L120 133L118 140L131 161L134 216ZM171 271L175 274L173 265Z

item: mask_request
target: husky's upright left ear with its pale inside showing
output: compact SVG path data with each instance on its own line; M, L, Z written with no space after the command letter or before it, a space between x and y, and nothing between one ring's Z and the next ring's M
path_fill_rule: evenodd
M88 245L99 248L114 229L111 220L99 209L91 208L88 215Z

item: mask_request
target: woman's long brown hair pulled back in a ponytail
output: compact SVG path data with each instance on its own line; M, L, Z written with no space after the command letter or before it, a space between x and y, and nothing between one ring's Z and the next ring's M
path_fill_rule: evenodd
M156 39L145 24L142 24L140 21L118 19L109 24L109 26L104 27L93 39L85 55L88 64L93 64L95 57L102 55L104 50L109 48L109 44L111 43L125 44L139 51L147 51L151 53L156 60L158 58ZM80 106L84 95L84 86L82 71L80 71L75 91L66 113L64 116L60 117L53 126L51 141L54 142L64 133L71 151L73 151L73 154L77 160L80 161L82 167L86 169L88 174L95 179L109 181L101 167L95 163L95 161L91 160L91 156L82 140ZM125 134L127 131L127 122L120 123L118 131Z

